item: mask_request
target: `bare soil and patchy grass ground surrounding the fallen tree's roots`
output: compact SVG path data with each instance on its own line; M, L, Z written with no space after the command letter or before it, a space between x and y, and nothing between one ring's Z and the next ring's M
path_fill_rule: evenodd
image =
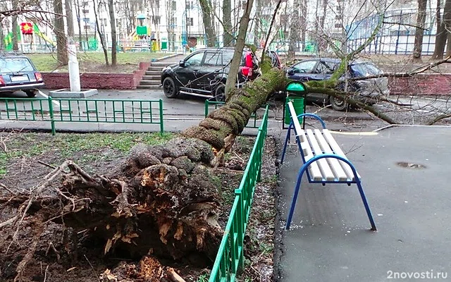
M144 134L118 136L96 133L90 136L58 133L54 137L47 133L1 133L0 183L9 191L0 188L0 197L32 190L52 170L51 166L58 166L66 159L80 164L89 173L108 175L123 161L132 145L139 142L154 144L168 138L147 138ZM123 142L115 141L119 139ZM226 154L223 166L216 169L216 176L222 183L223 204L227 207L224 210L230 210L234 190L240 185L242 171L253 145L254 137L237 137L233 149ZM272 137L266 139L261 176L245 238L246 271L238 278L239 281L272 281L276 214L274 193L277 185L276 142ZM59 180L53 185L58 186L58 183ZM46 195L51 197L52 191L52 187L47 188ZM4 209L1 204L0 211L0 223L16 213L14 209ZM110 270L121 269L130 273L135 267L142 267L138 265L139 259L126 257L120 252L104 255L103 242L96 242L83 231L76 233L70 228L63 229L56 223L47 223L44 233L39 240L35 240L33 220L32 214L25 217L15 242L12 238L16 228L1 228L0 281L13 281L18 263L35 241L38 242L36 252L27 264L23 281L114 281L109 278ZM220 215L222 227L227 220L228 214ZM160 262L173 267L185 281L207 281L209 277L210 269L197 269L164 260ZM131 281L146 280L137 278Z

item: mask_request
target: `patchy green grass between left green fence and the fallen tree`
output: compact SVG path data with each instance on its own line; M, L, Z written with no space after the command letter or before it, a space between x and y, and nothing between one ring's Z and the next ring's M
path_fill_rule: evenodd
M111 161L125 157L137 143L156 145L173 137L172 133L0 133L4 142L0 149L0 179L8 171L18 171L18 163L32 164L41 159L59 166L66 159L78 164Z

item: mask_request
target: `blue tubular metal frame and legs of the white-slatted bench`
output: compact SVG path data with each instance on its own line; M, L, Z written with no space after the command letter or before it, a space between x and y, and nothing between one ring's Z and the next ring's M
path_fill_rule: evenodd
M324 123L324 121L319 116L317 116L315 114L299 114L299 116L297 116L297 118L301 118L301 117L302 118L305 118L305 117L316 118L321 123L323 129L326 129L326 123ZM288 126L287 136L285 137L285 144L283 145L283 152L282 152L282 157L280 159L280 164L283 164L283 160L285 159L285 154L286 154L288 142L290 141L291 130L295 130L295 125L293 123L293 118L291 118L290 126ZM295 186L295 194L293 195L293 199L292 199L292 203L291 203L291 207L290 207L290 214L288 214L288 219L287 219L287 223L286 223L285 229L286 230L290 229L292 216L293 216L293 214L295 212L297 195L299 194L299 190L300 190L300 186L301 186L302 176L304 175L304 172L306 172L307 173L307 178L309 180L309 183L321 183L323 185L326 185L326 183L345 183L348 186L350 186L352 183L357 184L357 188L359 188L359 192L360 192L360 197L362 197L362 202L364 203L366 214L368 215L369 222L371 223L371 230L372 231L376 231L376 224L374 223L373 216L371 215L371 210L369 209L369 204L366 201L365 193L364 193L364 190L362 188L362 181L360 180L359 175L357 174L357 170L355 169L354 165L348 159L345 159L344 157L342 157L342 156L340 156L338 154L317 154L316 156L314 156L311 159L309 159L309 161L305 161L304 152L302 150L301 142L300 142L299 137L297 136L297 134L296 134L296 143L297 143L297 147L299 149L299 152L301 153L301 156L302 156L302 162L304 164L301 166L301 168L299 168L299 172L297 173L297 182L296 182L296 186ZM309 175L309 171L307 170L307 168L314 161L317 161L319 159L327 159L327 158L338 159L340 161L344 161L346 164L349 164L351 169L352 169L352 173L354 173L354 180L347 180L347 181L342 181L342 180L338 180L338 179L335 179L333 181L330 181L330 180L321 180L321 181L312 180L310 175Z

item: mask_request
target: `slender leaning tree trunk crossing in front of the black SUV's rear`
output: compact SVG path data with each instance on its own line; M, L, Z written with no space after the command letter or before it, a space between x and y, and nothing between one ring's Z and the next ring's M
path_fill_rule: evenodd
M247 0L246 9L240 20L240 27L238 29L237 44L235 45L235 52L233 53L232 62L230 63L230 71L226 81L226 99L228 99L228 92L235 88L237 82L237 73L240 70L242 49L245 48L245 40L247 35L247 26L249 25L249 16L252 10L254 0Z

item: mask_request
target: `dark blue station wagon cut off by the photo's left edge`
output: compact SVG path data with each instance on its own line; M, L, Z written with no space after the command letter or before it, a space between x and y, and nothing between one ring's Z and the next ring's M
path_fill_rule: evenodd
M28 97L35 97L41 87L44 80L30 59L18 54L0 55L0 92L22 90Z

